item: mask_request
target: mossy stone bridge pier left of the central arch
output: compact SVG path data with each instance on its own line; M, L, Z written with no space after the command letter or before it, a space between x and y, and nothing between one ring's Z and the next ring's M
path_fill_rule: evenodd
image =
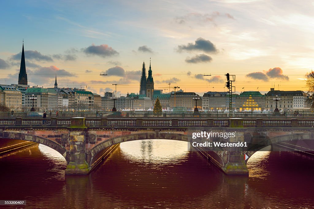
M66 175L84 175L91 170L85 154L86 128L85 118L71 118L69 128L70 160L65 170Z

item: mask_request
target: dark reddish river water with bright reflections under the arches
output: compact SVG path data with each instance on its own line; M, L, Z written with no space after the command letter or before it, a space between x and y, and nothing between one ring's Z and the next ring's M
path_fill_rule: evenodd
M186 142L158 139L124 142L90 175L65 177L63 157L39 145L0 156L0 199L27 201L11 208L314 208L313 165L314 156L264 151L249 177L226 176Z

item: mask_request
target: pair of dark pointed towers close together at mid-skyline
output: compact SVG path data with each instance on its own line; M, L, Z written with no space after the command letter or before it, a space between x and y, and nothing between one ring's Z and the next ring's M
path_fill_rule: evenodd
M150 61L149 61L149 71L148 71L148 77L147 78L146 78L145 62L143 62L141 83L140 83L140 87L139 87L139 94L144 94L144 95L146 95L146 97L153 99L154 79L153 79L153 75L152 75L152 68L150 66Z

